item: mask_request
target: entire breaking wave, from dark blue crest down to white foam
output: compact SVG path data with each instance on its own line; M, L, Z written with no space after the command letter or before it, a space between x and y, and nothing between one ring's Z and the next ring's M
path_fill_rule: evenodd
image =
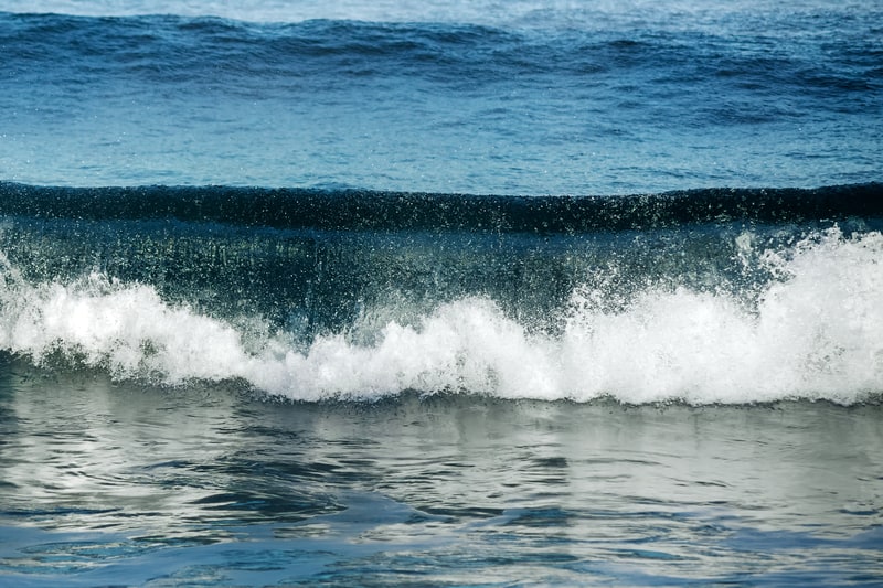
M498 197L0 184L0 348L298 400L883 391L883 186Z

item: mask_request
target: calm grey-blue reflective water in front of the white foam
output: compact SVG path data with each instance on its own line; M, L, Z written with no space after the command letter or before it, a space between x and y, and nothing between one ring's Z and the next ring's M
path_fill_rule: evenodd
M880 406L0 377L0 574L21 584L883 580Z

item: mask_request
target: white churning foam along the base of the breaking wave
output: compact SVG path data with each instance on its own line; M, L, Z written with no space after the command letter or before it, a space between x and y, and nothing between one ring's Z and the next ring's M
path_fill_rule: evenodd
M3 259L0 348L38 364L61 355L167 385L242 378L304 400L407 389L638 404L879 398L883 235L834 228L754 258L777 278L751 304L649 286L610 310L586 284L554 335L531 331L492 300L466 298L415 324L390 320L371 343L349 332L306 349L259 321L244 329L171 306L147 285L102 274L34 285Z

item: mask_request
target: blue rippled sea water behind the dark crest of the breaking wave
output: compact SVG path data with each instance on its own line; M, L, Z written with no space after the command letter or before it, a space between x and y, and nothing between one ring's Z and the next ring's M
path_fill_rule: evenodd
M880 179L873 2L534 8L517 22L493 7L465 22L2 14L0 169L530 195Z

